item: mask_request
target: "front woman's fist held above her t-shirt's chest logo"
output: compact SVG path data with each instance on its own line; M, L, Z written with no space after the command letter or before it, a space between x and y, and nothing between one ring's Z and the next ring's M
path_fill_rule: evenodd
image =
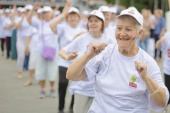
M135 62L136 70L138 71L140 77L145 79L147 77L147 65L143 62Z

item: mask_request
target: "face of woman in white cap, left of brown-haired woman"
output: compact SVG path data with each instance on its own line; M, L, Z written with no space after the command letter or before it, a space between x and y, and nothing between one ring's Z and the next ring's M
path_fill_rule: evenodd
M77 13L69 13L67 15L67 22L70 24L70 26L77 26L80 22L80 17Z

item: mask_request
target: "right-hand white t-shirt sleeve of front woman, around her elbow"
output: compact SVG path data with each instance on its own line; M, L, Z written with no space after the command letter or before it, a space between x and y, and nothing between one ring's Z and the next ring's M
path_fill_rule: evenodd
M166 103L168 103L168 99L169 99L169 93L168 93L168 89L165 86L162 76L161 76L161 71L159 66L157 65L157 63L151 59L151 62L149 62L148 64L148 74L152 77L152 79L160 86L162 87L165 91L166 91ZM147 91L148 92L148 91ZM149 97L149 103L150 103L150 107L156 111L159 112L161 110L163 110L164 108L157 106L156 104L154 104L150 93L148 92L148 97Z

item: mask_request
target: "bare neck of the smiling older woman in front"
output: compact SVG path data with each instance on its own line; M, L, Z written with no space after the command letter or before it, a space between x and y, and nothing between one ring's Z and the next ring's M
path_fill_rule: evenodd
M135 56L139 51L139 48L137 46L134 46L133 48L128 48L128 49L122 49L119 48L119 52L127 57L133 57Z

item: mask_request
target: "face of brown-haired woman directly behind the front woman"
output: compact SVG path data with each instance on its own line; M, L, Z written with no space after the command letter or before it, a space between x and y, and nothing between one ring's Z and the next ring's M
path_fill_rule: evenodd
M96 16L90 16L88 19L88 28L90 32L102 32L102 20Z

